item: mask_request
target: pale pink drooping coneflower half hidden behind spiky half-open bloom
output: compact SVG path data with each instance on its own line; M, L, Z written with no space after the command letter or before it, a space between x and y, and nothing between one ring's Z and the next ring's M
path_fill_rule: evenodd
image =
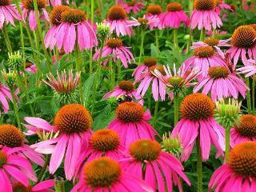
M159 70L162 74L165 73L163 66L150 66L148 72L143 72L138 79L135 79L135 82L140 82L137 92L143 97L152 82L152 94L154 101L158 101L159 98L164 101L166 98L166 89L163 82L161 82L157 77L155 77L154 73L152 73L154 70Z

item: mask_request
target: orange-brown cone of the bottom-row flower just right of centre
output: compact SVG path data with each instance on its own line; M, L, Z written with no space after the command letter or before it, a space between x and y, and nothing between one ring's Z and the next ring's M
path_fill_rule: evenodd
M136 158L139 162L154 161L158 158L161 152L161 146L158 142L141 139L133 142L129 147L130 155Z

